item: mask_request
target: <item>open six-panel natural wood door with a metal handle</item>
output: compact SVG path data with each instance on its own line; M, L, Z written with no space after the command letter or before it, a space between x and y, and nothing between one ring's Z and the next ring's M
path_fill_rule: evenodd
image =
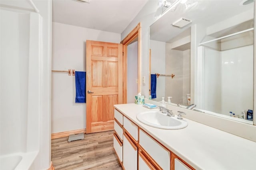
M86 133L114 129L122 81L122 44L86 40Z

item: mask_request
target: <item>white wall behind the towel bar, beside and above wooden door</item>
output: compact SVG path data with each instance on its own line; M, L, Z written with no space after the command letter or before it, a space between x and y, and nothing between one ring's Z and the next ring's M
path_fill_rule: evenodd
M85 71L86 40L120 43L120 34L52 23L52 70ZM75 103L75 77L52 73L52 133L86 128L86 104Z

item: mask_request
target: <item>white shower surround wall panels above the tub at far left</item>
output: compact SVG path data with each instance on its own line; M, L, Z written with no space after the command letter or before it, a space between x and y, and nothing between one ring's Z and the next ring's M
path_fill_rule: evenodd
M0 154L4 155L26 152L30 16L0 11Z

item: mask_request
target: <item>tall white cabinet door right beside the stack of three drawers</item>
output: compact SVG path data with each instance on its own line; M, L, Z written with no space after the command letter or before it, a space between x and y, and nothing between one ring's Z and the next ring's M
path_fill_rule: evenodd
M124 133L123 137L123 166L125 170L137 169L137 147Z

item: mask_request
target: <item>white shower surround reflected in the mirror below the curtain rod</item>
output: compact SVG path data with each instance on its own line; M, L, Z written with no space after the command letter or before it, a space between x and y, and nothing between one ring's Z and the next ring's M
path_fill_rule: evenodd
M204 48L204 56L205 92L199 108L224 115L252 109L253 45L226 51Z

